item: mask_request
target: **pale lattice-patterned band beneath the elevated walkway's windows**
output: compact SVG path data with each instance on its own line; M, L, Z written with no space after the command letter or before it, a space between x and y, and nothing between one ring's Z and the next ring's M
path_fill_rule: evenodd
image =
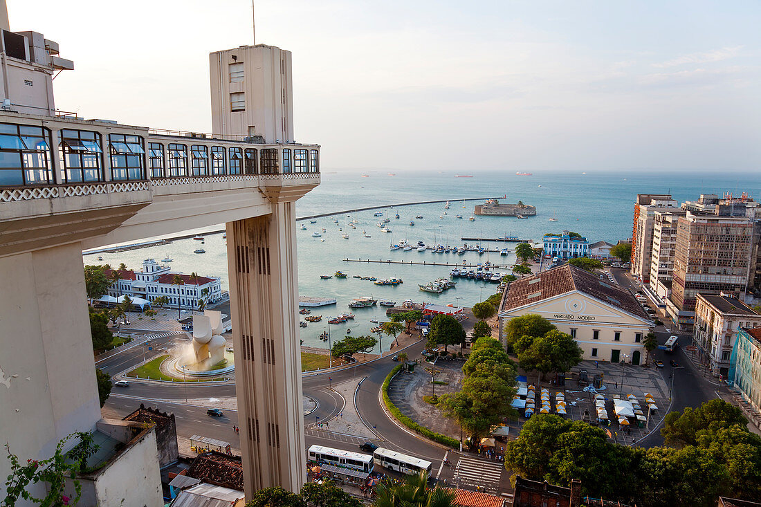
M101 183L0 187L0 202L18 202L34 199L53 199L56 197L78 197L106 193L136 192L140 190L151 190L151 186L169 187L195 183L222 183L225 181L309 180L319 177L320 173L220 174L215 176L153 178L151 180L141 181L105 181Z

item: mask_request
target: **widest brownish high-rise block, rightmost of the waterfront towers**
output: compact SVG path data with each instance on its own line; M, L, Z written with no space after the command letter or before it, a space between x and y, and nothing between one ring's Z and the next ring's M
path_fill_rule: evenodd
M746 291L753 218L725 214L730 212L717 206L713 213L686 212L677 222L673 282L666 307L680 329L692 328L699 292L725 292L740 298Z

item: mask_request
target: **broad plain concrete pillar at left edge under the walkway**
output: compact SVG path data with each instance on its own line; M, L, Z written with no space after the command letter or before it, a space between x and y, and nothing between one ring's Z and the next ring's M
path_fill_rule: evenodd
M81 244L0 257L0 273L0 445L26 463L100 419ZM3 449L3 482L9 463Z

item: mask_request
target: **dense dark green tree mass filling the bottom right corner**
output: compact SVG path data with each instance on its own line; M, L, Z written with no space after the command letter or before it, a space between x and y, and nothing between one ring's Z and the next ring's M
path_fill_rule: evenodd
M521 477L568 486L629 505L702 505L718 496L761 497L761 436L736 407L711 400L670 413L661 432L679 448L633 448L602 429L552 414L529 419L505 447L505 467ZM692 443L687 443L692 442Z

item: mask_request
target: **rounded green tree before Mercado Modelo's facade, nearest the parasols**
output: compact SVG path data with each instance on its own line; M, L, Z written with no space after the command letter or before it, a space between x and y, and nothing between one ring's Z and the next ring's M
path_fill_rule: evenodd
M518 365L524 370L541 371L542 378L550 371L565 372L581 362L583 352L576 340L559 330L549 330L544 336L524 336L514 343Z

